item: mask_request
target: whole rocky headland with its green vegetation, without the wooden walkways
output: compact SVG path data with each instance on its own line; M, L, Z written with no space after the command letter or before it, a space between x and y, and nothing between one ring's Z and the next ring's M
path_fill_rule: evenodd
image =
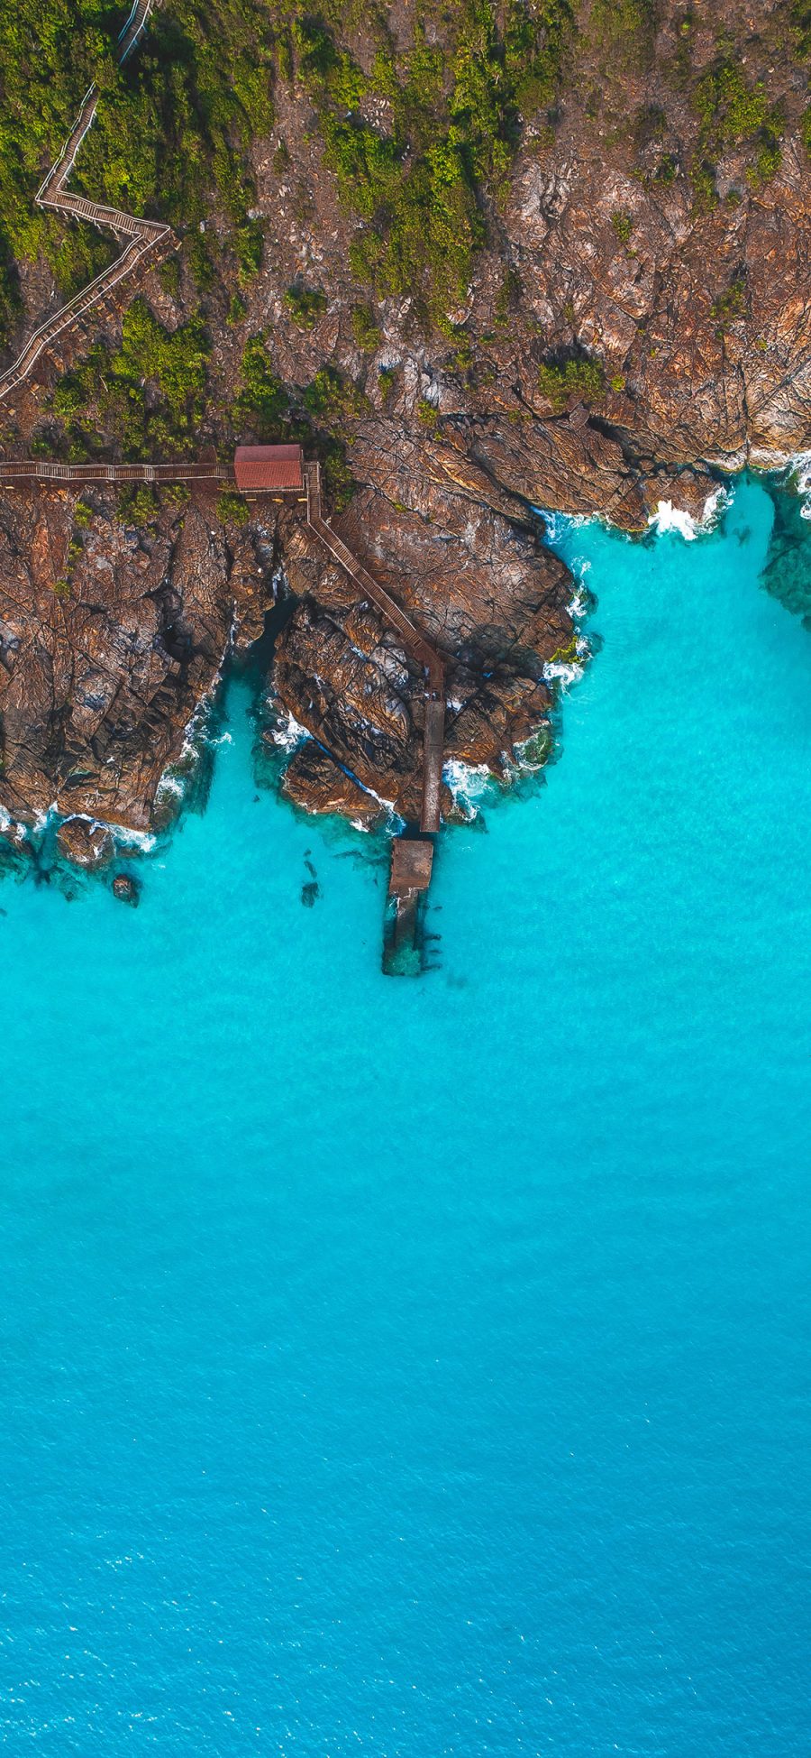
M809 443L802 9L172 4L125 67L114 37L97 65L81 9L72 28L100 93L72 188L179 250L37 359L4 404L5 457L304 443L339 536L448 656L446 758L509 775L516 747L548 747L576 650L535 508L700 519L728 473ZM21 214L81 90L44 102L0 213L4 366L79 290L58 229L75 280L93 229ZM21 139L25 102L7 90ZM4 490L0 548L12 821L151 828L195 708L269 615L270 694L312 735L288 795L413 816L418 668L283 505Z

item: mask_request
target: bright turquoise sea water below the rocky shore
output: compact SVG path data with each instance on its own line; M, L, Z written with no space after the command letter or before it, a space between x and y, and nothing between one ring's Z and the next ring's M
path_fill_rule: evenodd
M14 1758L807 1758L769 524L741 485L695 543L563 534L604 645L546 788L442 837L421 981L372 844L256 796L244 686L137 911L0 888Z

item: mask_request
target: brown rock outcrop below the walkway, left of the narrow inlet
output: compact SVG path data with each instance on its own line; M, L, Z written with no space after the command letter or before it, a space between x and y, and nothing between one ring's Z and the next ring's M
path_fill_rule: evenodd
M160 775L211 689L233 605L221 529L191 506L139 531L93 496L0 501L2 802L149 826Z

